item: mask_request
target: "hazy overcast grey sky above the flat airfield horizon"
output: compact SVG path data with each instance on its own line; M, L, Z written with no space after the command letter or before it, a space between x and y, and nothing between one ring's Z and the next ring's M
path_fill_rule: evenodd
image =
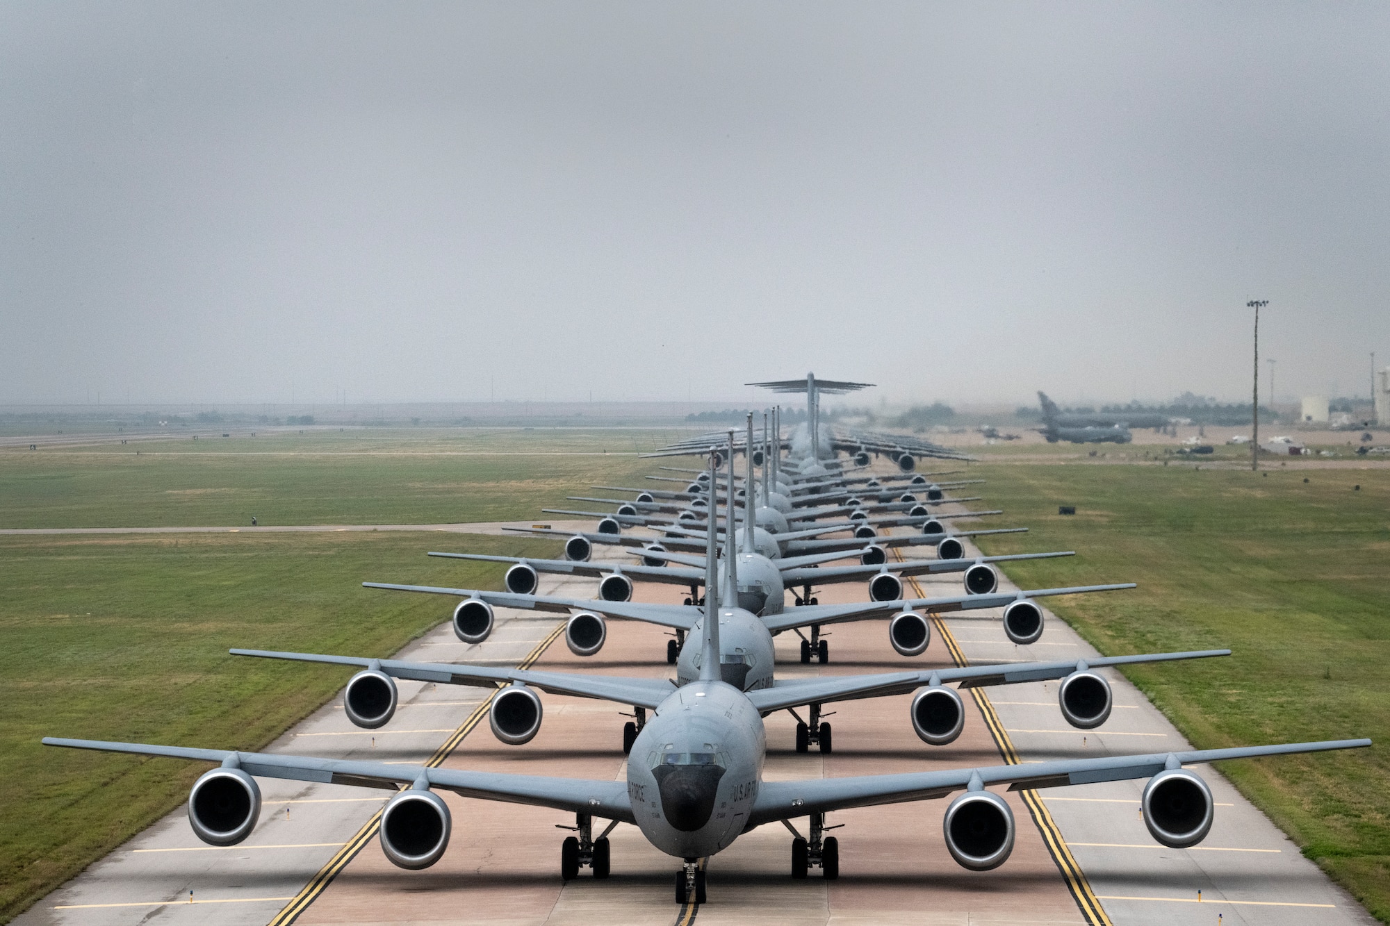
M0 403L1365 395L1386 3L0 3ZM1261 362L1261 389L1268 366Z

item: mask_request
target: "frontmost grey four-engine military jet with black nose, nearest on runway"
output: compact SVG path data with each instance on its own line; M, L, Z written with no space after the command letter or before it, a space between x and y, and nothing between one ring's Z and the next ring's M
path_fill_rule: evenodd
M733 569L733 556L727 555L726 560L726 569ZM706 587L716 588L713 533L708 537L706 569ZM396 791L381 812L379 840L386 858L404 869L430 868L449 845L452 815L436 790L574 813L578 836L566 837L560 845L560 875L566 880L577 877L585 866L595 877L607 877L612 872L607 834L619 823L631 823L653 847L681 859L674 882L678 904L708 900L701 858L728 848L742 833L764 823L783 823L791 830L794 879L806 877L810 868L820 868L826 879L835 879L840 876L840 843L826 836L831 829L826 826L827 813L963 791L942 818L947 851L966 869L990 870L1012 852L1015 822L1008 802L988 786L1031 790L1147 777L1140 806L1150 834L1162 845L1186 848L1205 838L1216 805L1207 783L1184 765L1371 745L1369 740L1337 740L767 781L763 780L764 710L755 698L773 697L777 687L744 691L726 680L727 649L721 634L726 616L733 617L738 608L734 583L724 588L726 601L717 606L710 601L703 612L712 619L695 624L698 674L677 687L645 680L653 683L648 685L648 697L656 699L655 704L648 701L653 704L653 716L631 742L621 781L100 740L44 737L43 744L218 763L220 767L199 777L188 801L189 825L210 845L236 845L252 833L261 809L256 777ZM738 665L745 673L752 669ZM817 681L833 684L834 680ZM657 692L656 685L663 690ZM610 822L596 838L595 818ZM792 825L801 818L808 822L806 836Z

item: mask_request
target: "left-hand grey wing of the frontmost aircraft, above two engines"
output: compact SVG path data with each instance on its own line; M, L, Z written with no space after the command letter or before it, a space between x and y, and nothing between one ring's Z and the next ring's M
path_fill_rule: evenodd
M509 804L531 804L557 811L591 813L612 820L634 823L632 805L627 798L627 781L592 781L585 779L552 779L535 774L509 774L505 772L466 772L463 769L436 769L427 765L385 765L382 762L346 762L343 759L310 759L297 755L277 755L270 752L234 752L231 749L190 749L185 747L161 747L143 742L106 742L103 740L61 740L43 737L43 745L67 747L70 749L100 749L103 752L132 752L135 755L158 755L172 759L193 759L195 762L220 762L228 759L247 774L259 779L289 779L292 781L321 781L324 784L350 784L359 788L384 788L388 791L410 787L424 780L431 788L453 791L461 797L484 801L506 801Z

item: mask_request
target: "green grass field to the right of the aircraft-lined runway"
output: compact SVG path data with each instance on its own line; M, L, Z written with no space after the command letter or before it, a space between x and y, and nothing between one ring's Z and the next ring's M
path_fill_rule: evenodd
M972 471L990 480L983 494L1011 524L1031 528L990 538L988 552L1079 552L1011 564L1024 588L1138 583L1049 605L1102 652L1234 651L1182 672L1126 673L1197 747L1377 741L1222 772L1390 922L1390 470ZM1058 505L1076 505L1076 516L1058 516Z

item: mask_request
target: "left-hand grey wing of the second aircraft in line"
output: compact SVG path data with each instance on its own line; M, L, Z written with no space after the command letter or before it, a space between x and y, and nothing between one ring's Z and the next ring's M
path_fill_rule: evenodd
M448 685L507 685L514 681L550 691L616 701L635 708L655 710L676 687L666 679L634 679L626 676L581 676L569 672L534 672L531 669L495 669L466 666L450 662L402 662L400 659L364 659L361 656L321 656L311 652L274 652L270 649L229 649L234 656L261 656L292 662L327 662L335 666L375 667L392 679L435 681Z

